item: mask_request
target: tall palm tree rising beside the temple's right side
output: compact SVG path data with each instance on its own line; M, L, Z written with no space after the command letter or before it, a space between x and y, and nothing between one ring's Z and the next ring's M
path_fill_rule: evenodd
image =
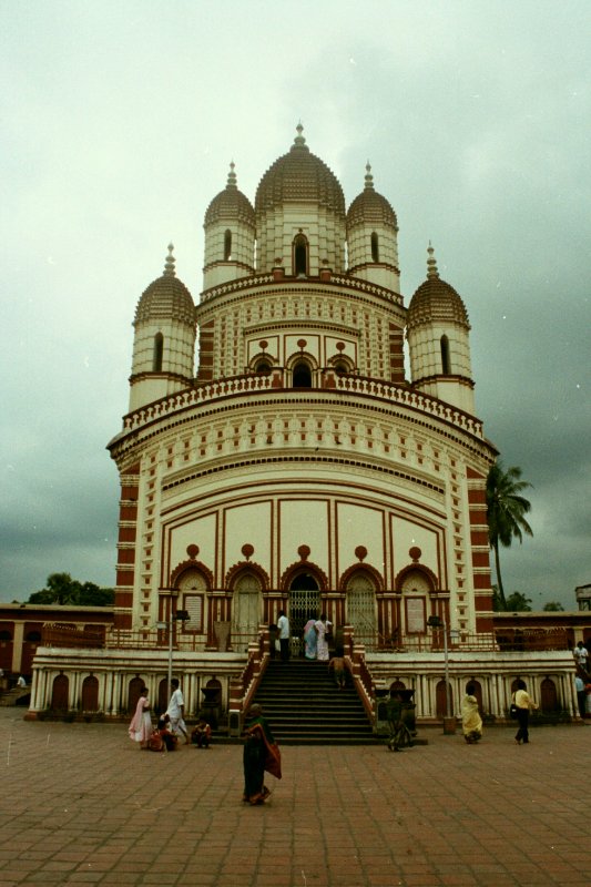
M517 466L505 470L502 462L497 460L490 467L487 478L488 538L490 548L495 552L499 598L503 610L507 608L507 599L502 587L499 546L509 548L513 539L519 539L521 542L523 533L533 536L524 518L531 504L521 496L528 487L531 487L531 483L521 480L521 469Z

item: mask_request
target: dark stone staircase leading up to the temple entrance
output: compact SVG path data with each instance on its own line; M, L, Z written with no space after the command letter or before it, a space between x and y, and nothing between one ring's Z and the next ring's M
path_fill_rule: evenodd
M281 745L369 745L377 742L350 679L338 690L326 662L272 660L254 702Z

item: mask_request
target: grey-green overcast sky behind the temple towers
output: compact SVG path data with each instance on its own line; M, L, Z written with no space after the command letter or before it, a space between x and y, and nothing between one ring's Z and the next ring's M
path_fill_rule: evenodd
M589 0L0 0L0 600L114 583L132 320L174 243L195 302L234 160L254 202L298 120L347 205L370 161L405 304L432 241L477 412L533 488L507 592L591 582Z

